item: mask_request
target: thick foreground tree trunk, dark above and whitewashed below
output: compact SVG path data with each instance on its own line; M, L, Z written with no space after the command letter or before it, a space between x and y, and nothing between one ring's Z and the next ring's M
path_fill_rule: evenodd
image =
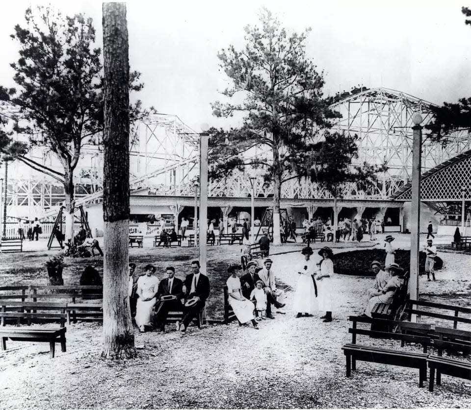
M135 356L128 297L129 56L125 3L103 3L105 166L103 218L103 351L109 359Z

